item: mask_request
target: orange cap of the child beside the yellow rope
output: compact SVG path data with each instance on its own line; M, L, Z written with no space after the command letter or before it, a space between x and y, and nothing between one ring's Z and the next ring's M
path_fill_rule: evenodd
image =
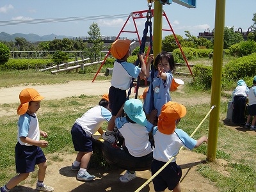
M187 113L185 106L177 102L169 101L163 105L161 114L158 117L157 129L163 134L173 134L176 127L176 120Z

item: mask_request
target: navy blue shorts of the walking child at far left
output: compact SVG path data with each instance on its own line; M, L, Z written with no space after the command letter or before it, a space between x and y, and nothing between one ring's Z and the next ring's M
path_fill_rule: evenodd
M18 142L15 146L15 164L17 173L30 173L35 171L35 165L44 163L46 157L42 148L32 145L20 145Z

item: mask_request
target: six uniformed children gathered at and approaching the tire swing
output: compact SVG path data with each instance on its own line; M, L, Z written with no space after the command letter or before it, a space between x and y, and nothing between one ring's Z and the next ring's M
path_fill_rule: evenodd
M138 54L141 67L127 62L131 54L130 40L116 40L111 45L111 54L116 58L109 93L103 95L98 106L88 110L77 118L71 134L77 157L71 169L78 171L77 180L93 180L94 175L87 172L88 163L92 156L92 134L99 131L102 138L110 143L115 141L115 127L124 136L122 147L132 156L141 157L153 153L152 175L170 158L175 157L180 147L190 150L207 142L203 136L198 140L189 137L186 132L176 129L180 118L186 115L186 108L170 97L170 87L173 81L172 72L175 64L172 54L161 52L156 56L150 55L147 66L143 54ZM150 77L150 63L154 61L154 76ZM139 99L127 99L126 91L130 88L132 78L147 77L151 86L145 94L145 102ZM153 108L148 106L152 104ZM47 133L40 131L36 111L40 108L40 96L36 90L25 89L20 93L20 115L18 123L18 142L15 147L15 163L19 175L10 179L1 192L6 192L25 180L30 172L39 166L36 189L39 191L53 191L54 188L44 184L46 158L41 147L47 147L48 142L40 140L40 136L47 137ZM148 118L146 118L146 114ZM103 122L108 122L106 132L100 129ZM156 126L155 126L156 125ZM154 146L149 142L148 134L152 132ZM181 169L173 158L163 172L153 179L155 191L168 188L180 191ZM129 182L136 177L134 170L120 177L122 182Z

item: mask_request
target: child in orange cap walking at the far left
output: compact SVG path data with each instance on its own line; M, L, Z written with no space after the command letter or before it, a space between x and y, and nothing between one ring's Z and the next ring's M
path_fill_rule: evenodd
M40 136L47 138L48 134L39 129L36 111L40 108L40 101L44 99L33 88L26 88L19 95L20 106L17 114L20 115L18 121L18 142L15 146L16 175L9 180L1 192L9 191L28 178L30 172L35 171L35 165L39 167L36 190L53 191L54 188L44 184L45 171L47 168L46 158L41 147L47 147L48 141L40 140Z

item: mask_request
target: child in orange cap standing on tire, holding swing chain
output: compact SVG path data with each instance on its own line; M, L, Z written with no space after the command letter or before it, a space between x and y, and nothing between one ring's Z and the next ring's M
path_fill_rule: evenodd
M111 109L112 117L108 122L108 129L102 135L102 138L110 143L115 142L115 136L113 134L115 116L125 100L127 100L126 90L129 90L132 78L135 79L138 76L146 76L146 65L144 63L143 54L138 54L141 68L133 63L127 62L127 58L129 58L131 54L130 44L131 41L128 39L116 40L111 45L110 49L111 54L116 58L113 67L111 87L109 88L109 108Z

